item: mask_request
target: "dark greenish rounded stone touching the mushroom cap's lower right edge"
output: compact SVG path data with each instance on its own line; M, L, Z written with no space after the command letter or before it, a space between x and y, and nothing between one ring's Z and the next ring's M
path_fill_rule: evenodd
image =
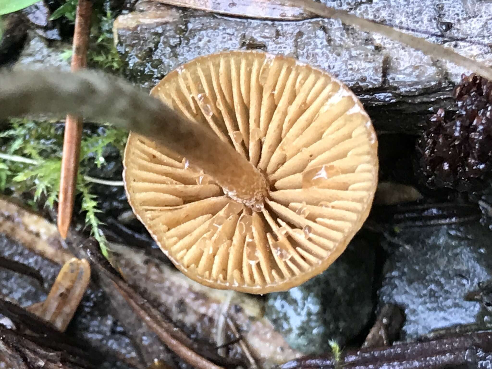
M374 263L373 246L356 238L322 274L268 294L265 316L293 348L305 353L330 352L330 340L344 346L369 323Z

